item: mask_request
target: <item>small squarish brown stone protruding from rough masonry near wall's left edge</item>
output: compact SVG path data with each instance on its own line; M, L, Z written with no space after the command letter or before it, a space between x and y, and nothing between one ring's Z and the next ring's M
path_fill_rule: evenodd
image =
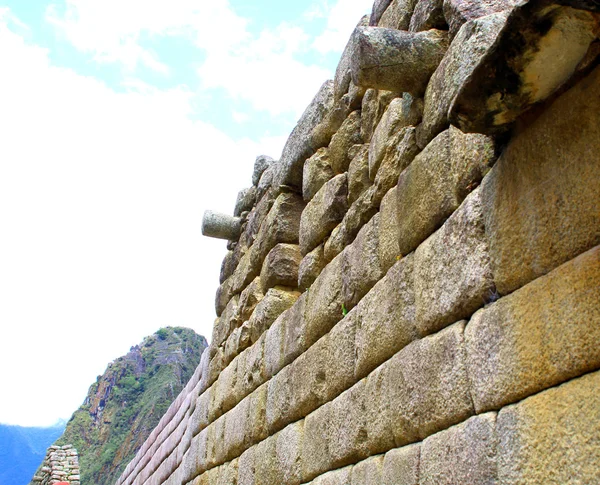
M302 261L300 246L297 244L278 244L265 258L260 280L263 288L298 285L298 267Z

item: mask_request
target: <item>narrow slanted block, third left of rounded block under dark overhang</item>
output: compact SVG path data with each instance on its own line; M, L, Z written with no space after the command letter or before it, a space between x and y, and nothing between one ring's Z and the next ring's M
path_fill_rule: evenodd
M342 263L337 256L321 272L311 286L304 312L304 344L309 347L342 319Z

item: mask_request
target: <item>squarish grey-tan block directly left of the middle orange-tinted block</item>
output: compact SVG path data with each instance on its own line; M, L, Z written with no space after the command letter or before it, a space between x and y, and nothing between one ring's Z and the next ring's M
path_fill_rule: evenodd
M464 326L459 322L407 345L373 373L386 372L385 405L396 446L421 441L474 414Z

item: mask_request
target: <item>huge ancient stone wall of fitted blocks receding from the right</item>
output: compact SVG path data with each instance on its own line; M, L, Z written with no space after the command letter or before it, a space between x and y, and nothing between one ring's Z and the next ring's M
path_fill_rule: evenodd
M599 12L377 0L118 485L600 483Z

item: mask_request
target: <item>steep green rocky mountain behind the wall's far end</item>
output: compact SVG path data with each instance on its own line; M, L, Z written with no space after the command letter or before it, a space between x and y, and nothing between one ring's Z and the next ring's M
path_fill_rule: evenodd
M110 363L92 384L56 445L79 452L81 482L112 484L189 381L206 339L160 329Z

